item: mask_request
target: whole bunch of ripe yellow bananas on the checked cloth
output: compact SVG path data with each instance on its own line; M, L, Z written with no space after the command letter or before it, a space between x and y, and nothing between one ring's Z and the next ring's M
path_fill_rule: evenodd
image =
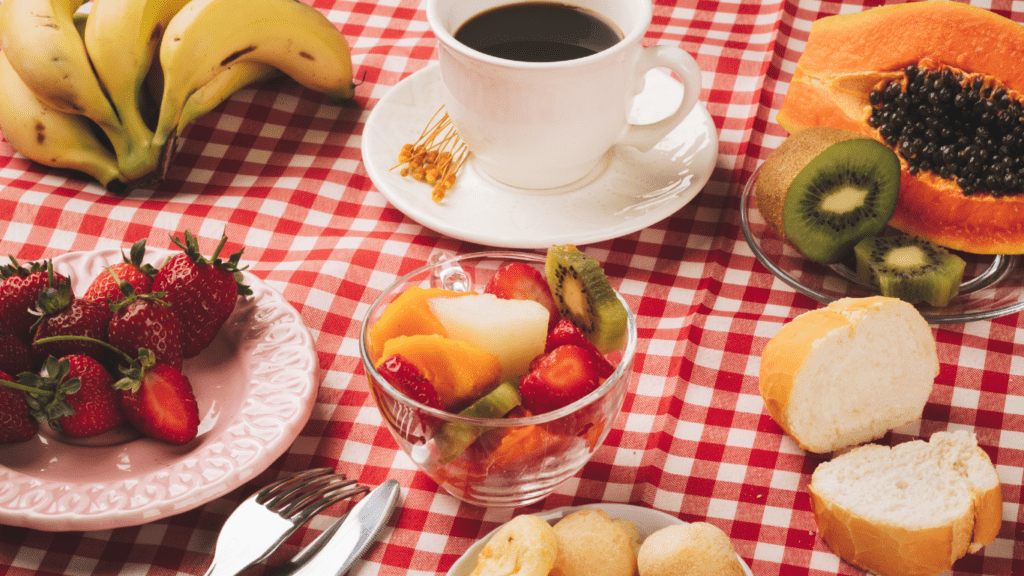
M284 73L352 96L348 43L301 1L83 4L0 1L0 132L112 192L161 180L185 126L250 83Z

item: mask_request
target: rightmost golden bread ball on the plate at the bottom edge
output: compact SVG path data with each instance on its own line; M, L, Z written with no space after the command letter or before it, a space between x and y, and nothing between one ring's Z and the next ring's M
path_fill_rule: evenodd
M706 522L674 524L644 539L640 576L743 576L729 536Z

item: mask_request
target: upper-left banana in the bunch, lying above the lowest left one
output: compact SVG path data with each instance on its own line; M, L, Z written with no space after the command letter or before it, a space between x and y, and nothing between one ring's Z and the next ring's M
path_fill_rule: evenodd
M130 142L75 28L74 13L81 5L82 0L3 0L0 47L40 100L94 121L122 156Z

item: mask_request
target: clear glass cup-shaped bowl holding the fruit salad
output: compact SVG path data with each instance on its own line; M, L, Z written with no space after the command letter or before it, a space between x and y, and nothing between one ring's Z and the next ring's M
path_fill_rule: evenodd
M545 258L520 252L477 252L432 258L399 278L371 304L359 332L359 355L370 390L384 423L402 451L453 496L479 506L523 506L544 499L575 476L604 442L623 405L637 328L627 310L627 338L607 358L615 370L590 395L558 410L518 418L471 418L425 406L385 380L370 358L370 330L384 308L413 286L483 292L492 276L511 262L544 270ZM475 442L454 458L443 458L435 438L445 427L475 427Z

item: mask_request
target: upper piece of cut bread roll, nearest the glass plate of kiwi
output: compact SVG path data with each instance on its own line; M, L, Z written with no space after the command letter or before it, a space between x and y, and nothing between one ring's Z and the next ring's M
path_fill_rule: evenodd
M897 298L843 298L793 319L761 354L768 413L810 452L882 438L921 418L939 360L921 313Z

